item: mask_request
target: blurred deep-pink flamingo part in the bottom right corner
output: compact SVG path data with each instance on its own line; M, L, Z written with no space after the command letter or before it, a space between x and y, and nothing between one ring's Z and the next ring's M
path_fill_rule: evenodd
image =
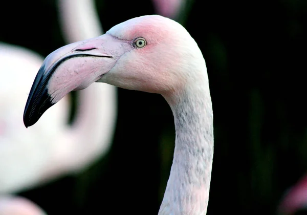
M307 211L307 175L285 193L279 203L278 214L294 215L304 208Z

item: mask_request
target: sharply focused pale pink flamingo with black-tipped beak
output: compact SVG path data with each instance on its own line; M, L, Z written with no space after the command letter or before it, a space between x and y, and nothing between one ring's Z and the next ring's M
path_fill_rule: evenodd
M146 15L55 50L34 79L24 110L25 126L34 125L69 92L93 82L158 93L166 99L176 141L158 214L206 214L213 112L206 63L186 29L169 18Z

